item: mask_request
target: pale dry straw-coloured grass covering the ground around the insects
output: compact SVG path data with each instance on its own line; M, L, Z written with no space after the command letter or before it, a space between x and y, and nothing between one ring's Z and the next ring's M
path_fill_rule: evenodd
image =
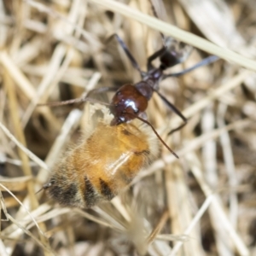
M0 255L255 255L256 3L165 2L160 21L147 0L0 1ZM223 59L160 84L189 118L182 131L168 136L180 119L157 96L149 104L180 159L162 148L129 189L90 210L36 194L88 129L87 108L38 103L138 81L119 45L104 42L117 32L145 69L157 31L196 47L172 72L202 50Z

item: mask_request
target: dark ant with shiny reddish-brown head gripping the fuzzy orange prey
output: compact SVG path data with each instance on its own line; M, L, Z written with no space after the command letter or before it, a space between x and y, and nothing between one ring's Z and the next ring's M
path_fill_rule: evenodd
M124 84L119 89L117 87L102 87L94 90L90 90L85 97L81 97L79 99L73 99L65 102L52 102L47 103L49 106L60 106L66 105L75 102L98 102L103 105L107 105L110 108L111 113L113 113L113 120L110 125L120 125L123 123L127 123L132 119L140 119L147 125L151 126L155 135L160 139L160 142L163 143L166 148L169 149L172 154L177 157L177 154L169 148L166 143L159 136L157 131L155 131L153 125L151 125L146 120L146 109L148 108L148 101L151 99L154 92L160 96L160 98L166 103L166 105L172 109L174 113L176 113L181 119L183 119L183 124L179 125L177 128L173 129L169 132L169 134L174 131L178 131L183 128L184 125L187 124L188 120L171 102L169 102L165 96L161 95L159 92L159 84L161 80L164 80L169 77L179 77L185 73L189 73L193 71L197 67L206 66L214 61L218 60L218 56L210 55L206 59L203 59L199 63L197 63L193 67L189 67L188 69L183 70L180 73L169 73L165 74L164 71L169 67L174 67L177 64L182 63L186 58L183 57L182 53L177 52L172 42L174 41L172 38L165 38L165 44L159 50L157 50L153 55L148 57L147 61L147 72L143 72L141 68L138 66L137 61L131 55L131 51L127 48L125 42L119 38L117 34L113 34L110 38L115 37L121 47L125 50L125 54L128 56L129 60L133 67L137 69L137 71L141 74L142 80L137 82L136 84ZM108 38L108 40L110 39ZM164 36L162 35L162 38ZM171 44L171 47L170 47ZM156 58L160 58L160 66L154 67L152 61ZM100 102L90 96L93 94L99 94L108 91L115 91L115 94L110 103ZM41 105L41 104L39 104ZM42 104L45 105L45 104ZM178 158L178 157L177 157Z

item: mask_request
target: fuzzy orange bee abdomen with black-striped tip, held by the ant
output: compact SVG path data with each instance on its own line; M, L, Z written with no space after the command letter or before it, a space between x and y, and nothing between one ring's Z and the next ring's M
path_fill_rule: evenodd
M67 207L110 201L159 153L159 141L139 120L120 125L101 121L90 136L55 166L49 197Z

